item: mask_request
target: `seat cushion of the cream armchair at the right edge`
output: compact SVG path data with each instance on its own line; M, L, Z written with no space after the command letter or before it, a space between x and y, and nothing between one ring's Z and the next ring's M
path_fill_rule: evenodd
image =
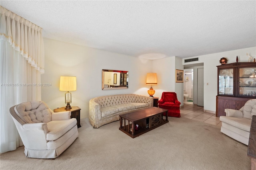
M252 120L244 117L220 116L220 121L228 123L234 127L250 132Z

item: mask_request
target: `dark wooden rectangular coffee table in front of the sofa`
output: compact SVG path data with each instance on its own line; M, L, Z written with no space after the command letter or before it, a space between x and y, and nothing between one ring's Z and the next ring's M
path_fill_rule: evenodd
M148 109L119 115L119 130L123 131L130 137L135 138L139 135L142 135L143 133L155 129L156 127L168 123L169 121L167 112L167 109L150 107ZM166 113L165 120L163 119L163 113ZM136 125L138 125L138 130L135 128Z

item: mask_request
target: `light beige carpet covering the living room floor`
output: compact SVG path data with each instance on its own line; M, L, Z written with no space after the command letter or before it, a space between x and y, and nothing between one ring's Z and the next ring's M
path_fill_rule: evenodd
M248 147L220 128L183 117L134 139L119 121L92 128L81 119L79 137L56 159L26 158L24 147L0 155L1 170L250 170Z

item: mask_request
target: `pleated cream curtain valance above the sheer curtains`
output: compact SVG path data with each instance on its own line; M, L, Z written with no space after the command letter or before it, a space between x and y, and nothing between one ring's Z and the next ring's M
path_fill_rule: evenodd
M44 73L44 43L42 28L0 6L0 37L26 58L40 73Z

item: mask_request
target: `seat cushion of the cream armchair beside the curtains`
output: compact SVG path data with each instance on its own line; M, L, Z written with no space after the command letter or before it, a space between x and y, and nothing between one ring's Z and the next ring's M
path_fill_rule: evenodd
M76 119L68 119L68 120L56 120L49 121L47 123L48 133L46 135L46 140L54 141L64 135L67 131L76 126Z

